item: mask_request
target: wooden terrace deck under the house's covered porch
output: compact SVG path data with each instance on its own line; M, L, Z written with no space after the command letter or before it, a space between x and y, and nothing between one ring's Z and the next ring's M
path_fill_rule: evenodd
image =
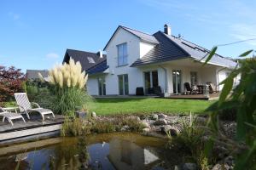
M205 96L204 94L189 94L189 95L171 95L167 97L168 99L205 99L205 100L212 100L218 99L219 93L209 94L209 97Z

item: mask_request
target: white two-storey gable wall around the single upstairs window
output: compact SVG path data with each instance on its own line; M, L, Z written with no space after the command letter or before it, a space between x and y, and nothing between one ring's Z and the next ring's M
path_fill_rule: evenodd
M128 65L118 66L118 50L117 45L127 43L128 52ZM143 72L130 65L135 62L139 57L152 47L150 44L140 42L140 39L122 28L115 33L108 47L105 49L107 52L107 64L109 65L110 73L106 77L106 94L116 95L119 94L118 75L128 74L129 79L129 94L136 94L137 87L144 87Z

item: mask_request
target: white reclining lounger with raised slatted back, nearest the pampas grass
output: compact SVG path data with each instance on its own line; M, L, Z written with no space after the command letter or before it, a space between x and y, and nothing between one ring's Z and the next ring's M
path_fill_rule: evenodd
M41 108L40 105L38 105L35 102L30 102L27 98L26 93L15 93L15 99L17 102L17 105L20 107L21 112L25 112L28 119L30 119L29 113L31 112L38 112L43 118L44 122L44 116L45 115L52 115L55 117L54 113L50 111L49 109ZM32 105L36 105L37 108L32 108Z

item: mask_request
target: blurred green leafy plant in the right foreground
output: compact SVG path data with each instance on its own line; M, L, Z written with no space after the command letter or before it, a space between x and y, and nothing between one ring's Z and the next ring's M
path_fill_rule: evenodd
M212 58L217 47L212 49L207 61ZM253 50L249 50L240 55L245 57L251 54ZM233 88L234 78L241 75L240 83ZM224 88L218 99L218 107L210 114L209 127L211 127L212 138L218 135L221 139L225 139L221 135L218 126L219 111L227 108L229 105L236 105L236 140L226 140L227 145L232 146L232 150L236 156L235 169L255 169L256 160L256 58L239 59L239 65L230 72L224 82ZM229 94L231 94L229 96Z

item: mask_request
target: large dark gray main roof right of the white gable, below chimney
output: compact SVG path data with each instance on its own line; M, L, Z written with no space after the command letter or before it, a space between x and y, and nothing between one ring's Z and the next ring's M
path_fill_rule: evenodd
M158 31L154 37L160 42L148 54L145 54L141 59L137 59L131 67L140 65L150 65L175 59L193 58L200 60L205 55L209 54L209 50L196 45L195 43L186 41L182 38L166 35ZM221 55L214 54L209 61L212 64L225 65L235 67L236 62L231 59L226 59Z

